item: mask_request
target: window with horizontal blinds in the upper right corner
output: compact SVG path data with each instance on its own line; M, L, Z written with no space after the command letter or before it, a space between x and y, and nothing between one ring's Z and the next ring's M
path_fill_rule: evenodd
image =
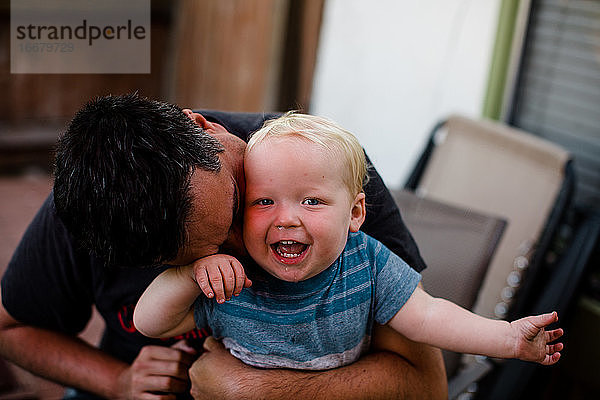
M509 123L569 150L575 202L600 204L600 1L533 1Z

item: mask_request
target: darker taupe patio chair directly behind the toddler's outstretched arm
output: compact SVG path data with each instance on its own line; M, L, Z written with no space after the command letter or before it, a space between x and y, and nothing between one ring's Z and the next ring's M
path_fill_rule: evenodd
M422 272L425 290L472 308L506 221L406 190L391 190L391 194L428 265ZM461 355L445 350L443 355L446 373L452 376Z

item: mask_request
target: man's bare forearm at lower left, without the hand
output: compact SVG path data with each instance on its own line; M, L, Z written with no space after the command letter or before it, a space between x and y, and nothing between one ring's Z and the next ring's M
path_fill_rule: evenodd
M44 378L114 398L127 364L84 341L24 325L0 332L0 354Z

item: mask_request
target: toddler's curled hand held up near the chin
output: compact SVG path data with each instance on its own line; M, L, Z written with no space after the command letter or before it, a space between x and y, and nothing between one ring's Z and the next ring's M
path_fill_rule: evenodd
M206 297L218 303L238 296L243 288L250 287L242 264L232 256L215 254L196 260L193 264L194 279Z

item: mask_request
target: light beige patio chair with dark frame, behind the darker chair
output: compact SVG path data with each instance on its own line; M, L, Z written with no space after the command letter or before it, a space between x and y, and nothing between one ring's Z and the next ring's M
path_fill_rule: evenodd
M472 290L477 293L467 308L486 317L510 320L532 310L541 285L546 283L538 279L539 274L573 187L571 157L561 147L502 123L458 115L434 128L405 185L419 197L506 220L483 277L478 278L481 269L471 272L465 267L460 273L464 279L473 278ZM424 244L419 239L417 243ZM460 251L472 248L465 243ZM423 251L426 260L427 256ZM430 264L428 274L447 275L442 271L451 264L443 259L440 265ZM429 280L435 278L424 276L426 289ZM428 290L453 301L457 296ZM463 357L462 364L448 370L450 398L497 365L472 356Z

